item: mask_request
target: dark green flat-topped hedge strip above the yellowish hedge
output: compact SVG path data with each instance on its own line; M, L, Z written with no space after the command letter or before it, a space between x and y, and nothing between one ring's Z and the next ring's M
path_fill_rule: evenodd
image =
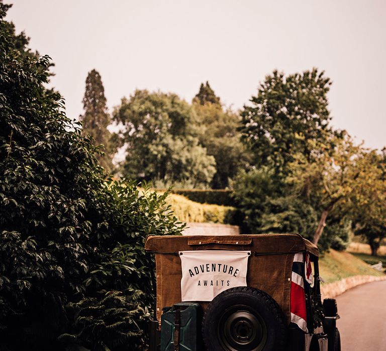
M164 190L165 191L165 190ZM200 204L212 204L221 206L235 206L232 199L232 191L227 189L202 190L202 189L172 189L171 193L182 195L191 201Z

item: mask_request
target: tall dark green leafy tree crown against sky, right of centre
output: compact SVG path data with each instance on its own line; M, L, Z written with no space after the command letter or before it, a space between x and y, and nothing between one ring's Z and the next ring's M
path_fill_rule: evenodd
M282 177L288 163L301 152L308 157L308 141L324 143L331 134L327 93L331 81L316 68L284 76L273 71L260 84L250 105L241 112L241 132L254 152L257 166L266 165Z

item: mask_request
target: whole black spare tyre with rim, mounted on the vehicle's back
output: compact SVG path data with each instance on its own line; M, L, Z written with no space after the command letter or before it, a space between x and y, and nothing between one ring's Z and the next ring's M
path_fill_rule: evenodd
M208 351L280 351L287 341L285 318L276 301L245 286L217 295L202 326Z

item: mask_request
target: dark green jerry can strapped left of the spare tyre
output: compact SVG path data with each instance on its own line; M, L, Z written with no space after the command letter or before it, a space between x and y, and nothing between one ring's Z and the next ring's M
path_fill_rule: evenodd
M179 302L163 308L161 351L201 351L203 310L199 303Z

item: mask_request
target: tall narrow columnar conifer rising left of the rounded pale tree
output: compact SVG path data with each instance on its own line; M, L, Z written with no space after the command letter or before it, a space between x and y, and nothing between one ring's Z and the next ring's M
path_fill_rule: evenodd
M110 116L107 112L105 88L98 71L88 72L86 78L86 90L83 97L84 114L80 116L83 122L83 134L89 134L94 139L94 145L103 145L106 155L97 155L99 164L107 171L113 169L110 137L107 129L110 124Z

